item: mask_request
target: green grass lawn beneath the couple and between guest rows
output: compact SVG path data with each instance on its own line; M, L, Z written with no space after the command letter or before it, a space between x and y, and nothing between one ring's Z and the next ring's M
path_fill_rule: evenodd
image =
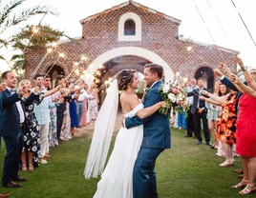
M223 157L215 155L216 150L196 140L184 138L184 130L172 129L172 148L165 149L156 162L158 192L160 198L169 197L243 197L239 189L238 174L234 168L242 168L241 158L236 157L235 166L220 168ZM57 148L51 148L52 158L48 164L32 171L19 171L28 182L22 188L0 188L0 193L9 193L15 198L94 196L99 178L84 179L83 170L91 140L86 136L75 137ZM110 150L113 149L114 140ZM0 176L6 150L2 144L0 153ZM246 197L255 197L255 193Z

